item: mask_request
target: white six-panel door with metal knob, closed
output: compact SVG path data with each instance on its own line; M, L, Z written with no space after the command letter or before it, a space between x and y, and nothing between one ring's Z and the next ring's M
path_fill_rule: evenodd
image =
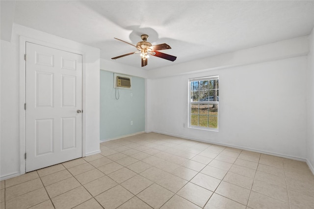
M82 157L82 55L26 42L26 172Z

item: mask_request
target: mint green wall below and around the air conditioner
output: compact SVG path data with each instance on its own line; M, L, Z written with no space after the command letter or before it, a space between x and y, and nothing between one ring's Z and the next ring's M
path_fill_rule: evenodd
M116 100L113 76L100 70L100 140L145 131L145 79L132 76L132 90L119 89Z

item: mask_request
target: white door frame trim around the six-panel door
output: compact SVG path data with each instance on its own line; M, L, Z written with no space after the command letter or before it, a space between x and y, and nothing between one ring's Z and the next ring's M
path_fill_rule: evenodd
M59 46L56 44L28 38L25 36L19 37L19 60L20 60L20 93L19 93L19 125L20 125L20 175L26 173L26 111L24 109L24 104L26 103L26 61L24 55L26 54L26 42L30 42L37 45L47 46L55 49L60 49L63 51L68 51L76 54L82 55L82 157L86 155L86 65L85 59L86 55L83 51L78 51L75 49L67 48L64 46ZM26 58L27 59L27 58ZM26 107L27 108L27 107Z

